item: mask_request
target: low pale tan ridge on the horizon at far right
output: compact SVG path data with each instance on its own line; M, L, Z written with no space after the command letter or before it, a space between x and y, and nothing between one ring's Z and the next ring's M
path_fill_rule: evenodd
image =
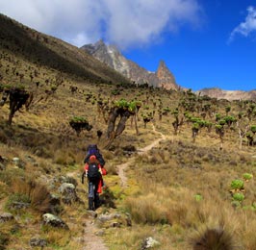
M227 99L227 100L252 100L256 99L256 90L242 91L242 90L222 90L218 87L203 88L198 90L197 93L201 92L201 95L208 95L212 98Z

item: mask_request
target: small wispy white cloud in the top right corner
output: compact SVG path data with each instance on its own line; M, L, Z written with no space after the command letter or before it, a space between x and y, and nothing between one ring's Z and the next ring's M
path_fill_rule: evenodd
M248 37L250 34L256 31L256 8L250 6L247 8L248 14L245 21L237 26L229 36L229 42L234 40L237 35Z

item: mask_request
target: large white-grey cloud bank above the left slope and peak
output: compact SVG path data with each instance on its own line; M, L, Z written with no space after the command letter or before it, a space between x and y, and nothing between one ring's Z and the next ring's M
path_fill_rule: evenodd
M198 0L0 0L2 13L40 32L82 46L104 38L143 46L199 20ZM13 3L15 2L15 3Z

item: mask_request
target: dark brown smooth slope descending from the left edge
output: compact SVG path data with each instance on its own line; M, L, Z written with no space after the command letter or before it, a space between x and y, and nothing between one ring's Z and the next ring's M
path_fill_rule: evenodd
M15 58L91 82L130 83L111 67L61 39L38 33L3 14L0 14L0 23L0 50L3 53L12 53Z

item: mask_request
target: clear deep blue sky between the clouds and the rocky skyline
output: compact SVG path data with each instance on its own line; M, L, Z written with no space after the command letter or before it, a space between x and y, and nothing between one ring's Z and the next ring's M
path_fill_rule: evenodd
M243 35L239 27L255 5L254 30ZM199 27L184 26L176 34L125 56L155 71L160 59L183 87L256 89L256 1L200 1ZM249 28L248 28L249 29Z

